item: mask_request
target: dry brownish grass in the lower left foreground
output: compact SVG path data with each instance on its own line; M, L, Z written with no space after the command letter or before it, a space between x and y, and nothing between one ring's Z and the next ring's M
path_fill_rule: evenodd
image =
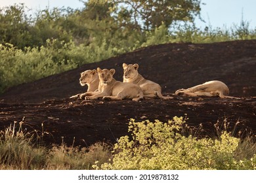
M104 143L80 148L68 147L62 142L47 148L35 141L41 138L38 132L23 131L22 122L17 130L14 122L1 131L0 169L92 169L95 161L103 163L111 157L109 146Z

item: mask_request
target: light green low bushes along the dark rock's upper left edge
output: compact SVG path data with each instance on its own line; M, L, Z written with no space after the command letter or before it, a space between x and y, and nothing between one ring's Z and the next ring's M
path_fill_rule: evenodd
M0 93L7 88L32 82L74 69L85 63L100 61L115 54L106 44L97 46L47 40L47 46L20 50L12 44L0 44Z

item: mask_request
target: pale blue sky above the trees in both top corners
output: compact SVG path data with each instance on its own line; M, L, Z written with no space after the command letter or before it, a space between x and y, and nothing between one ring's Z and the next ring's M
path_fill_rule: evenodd
M43 10L49 6L81 8L83 3L79 0L0 0L0 7L14 5L14 3L24 3L32 10ZM256 0L202 0L201 17L205 23L196 20L196 27L229 28L240 25L243 20L249 22L250 28L256 28Z

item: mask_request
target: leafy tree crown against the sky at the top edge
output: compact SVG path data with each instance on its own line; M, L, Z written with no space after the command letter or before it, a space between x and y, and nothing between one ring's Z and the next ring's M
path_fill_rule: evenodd
M116 17L126 20L129 17L133 24L146 31L161 24L169 27L177 21L193 22L201 10L200 0L114 0L114 3L116 6L112 12Z

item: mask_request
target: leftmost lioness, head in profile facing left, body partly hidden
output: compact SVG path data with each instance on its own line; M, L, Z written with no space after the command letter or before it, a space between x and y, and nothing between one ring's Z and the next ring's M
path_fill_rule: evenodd
M83 98L87 95L93 95L96 90L98 90L98 83L100 82L98 78L98 74L96 73L96 70L87 70L81 73L81 76L79 78L79 83L81 86L85 86L87 84L87 92L85 93L78 93L77 95L73 95L70 98L80 97Z

